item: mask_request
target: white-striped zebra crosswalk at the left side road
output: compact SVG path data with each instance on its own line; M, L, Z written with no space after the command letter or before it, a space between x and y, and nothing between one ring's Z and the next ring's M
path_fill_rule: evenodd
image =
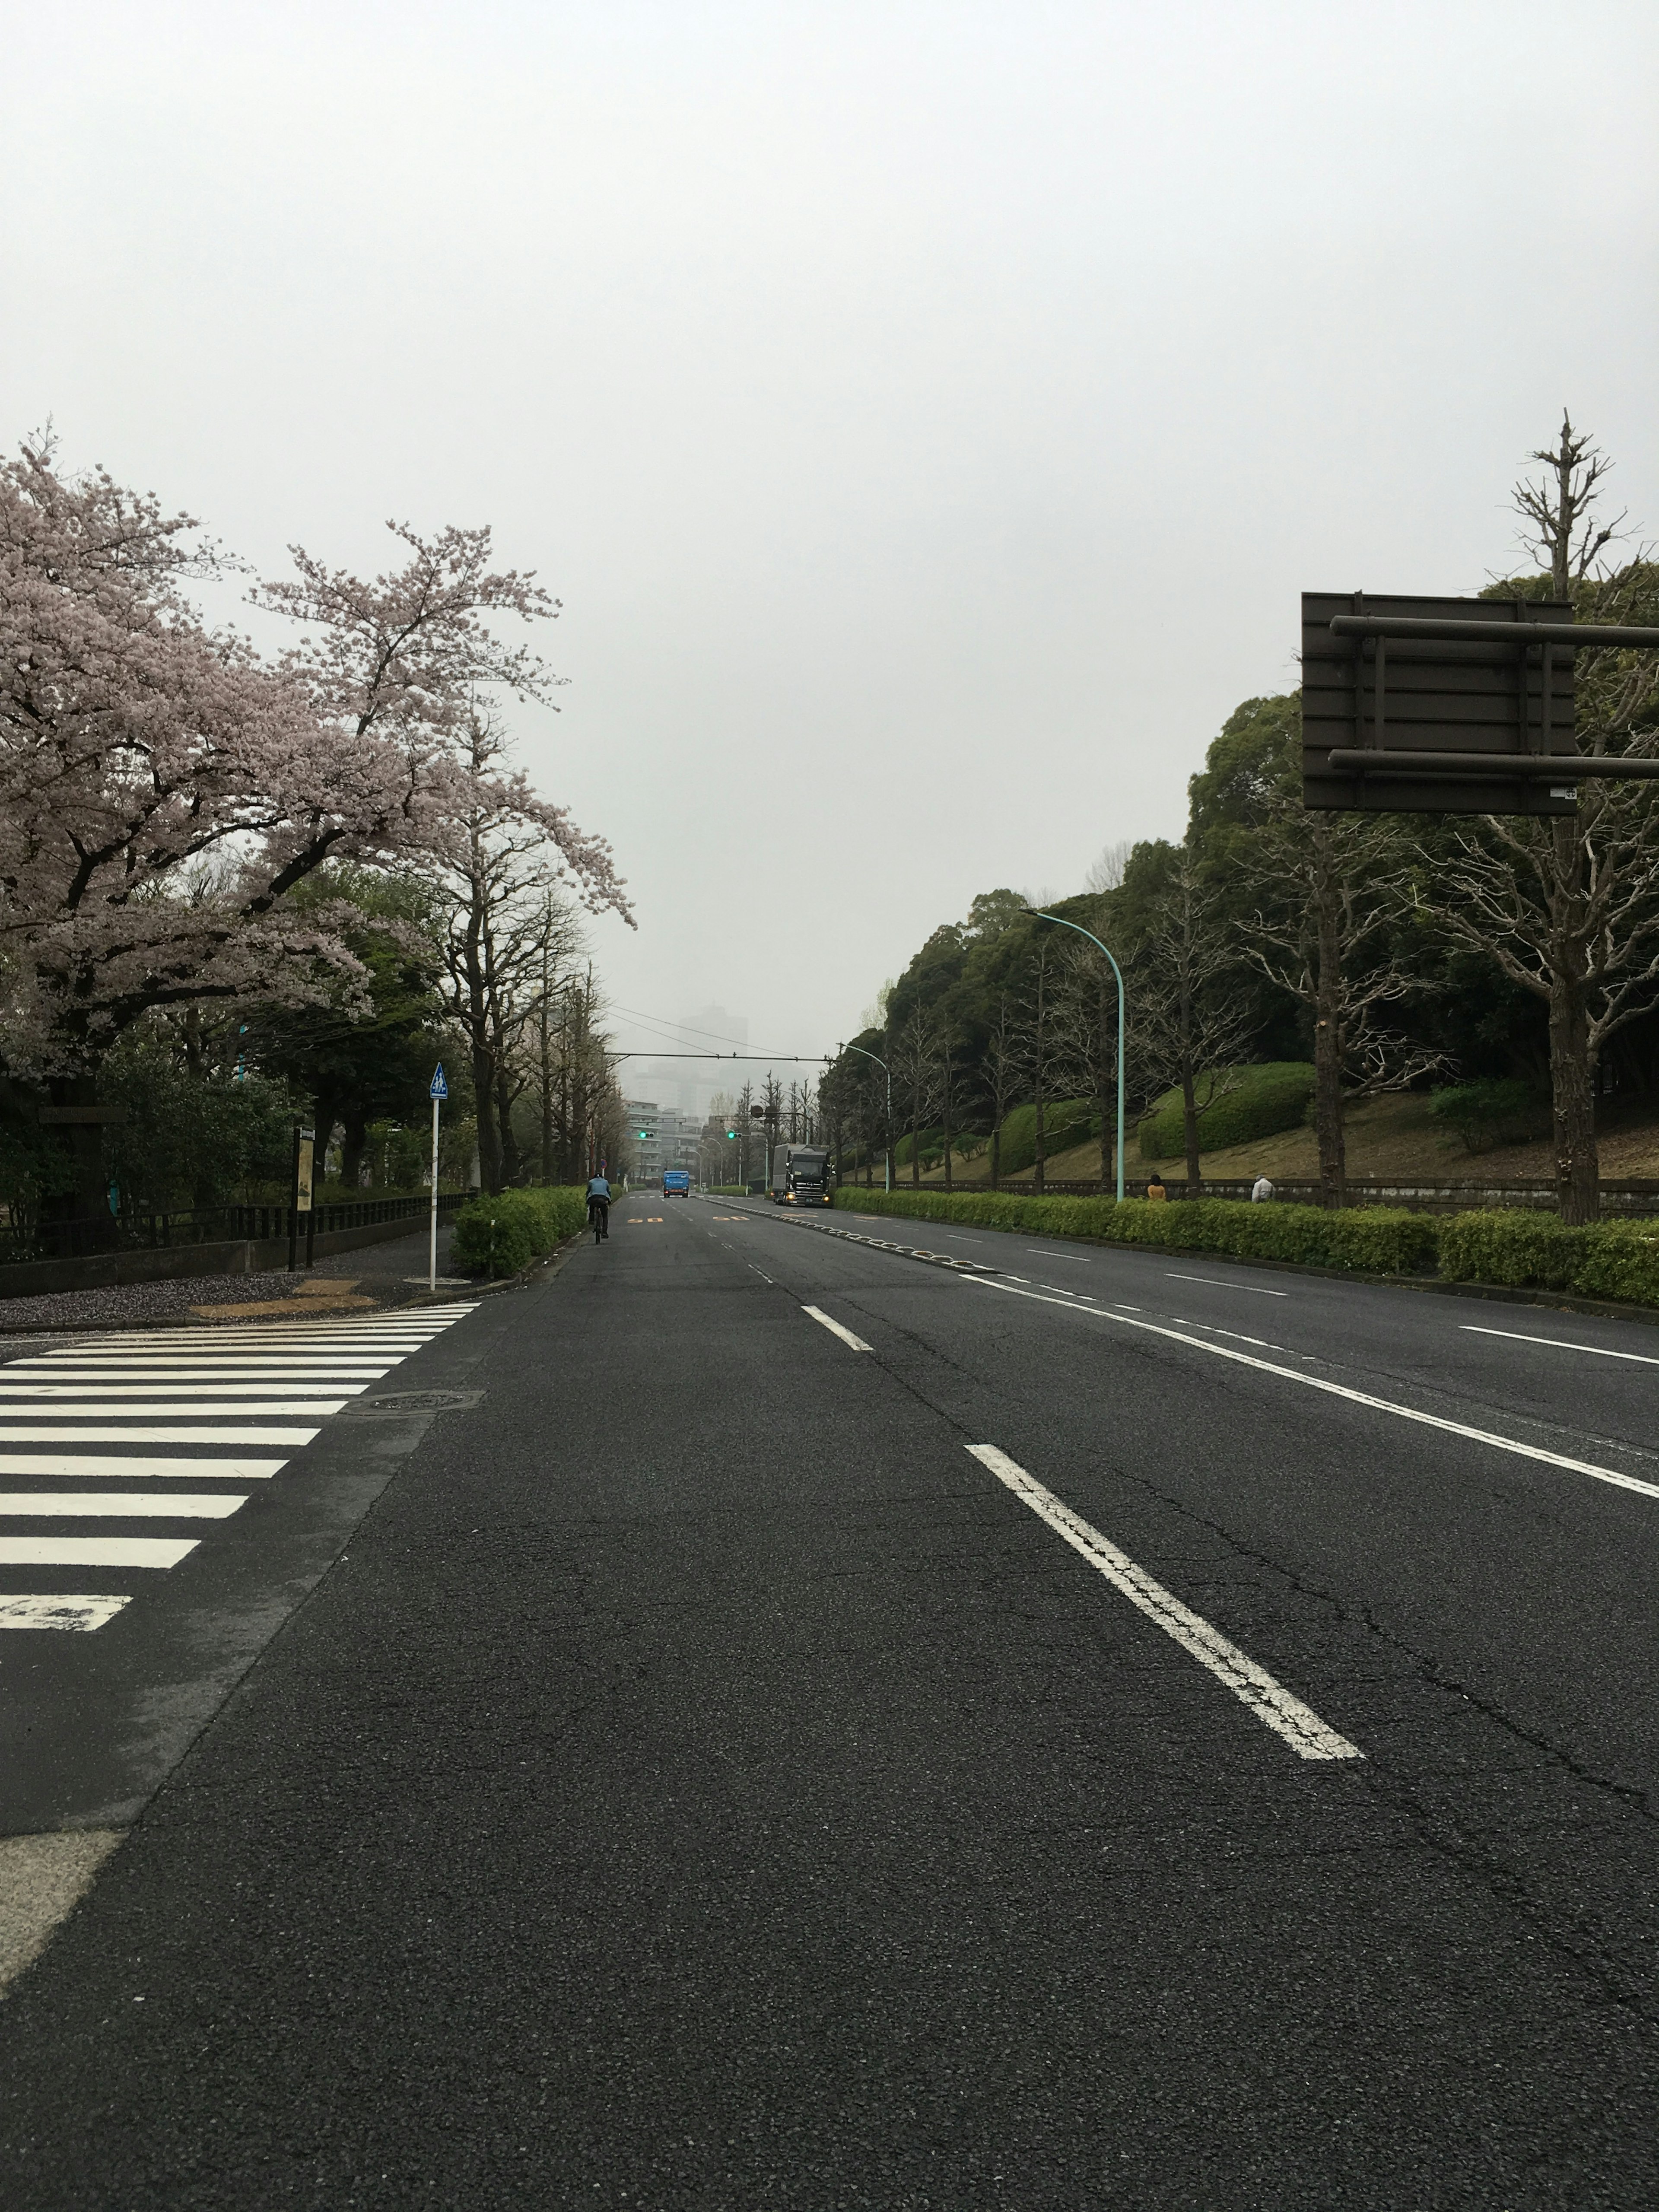
M179 1566L204 1537L161 1535L155 1522L230 1520L250 1493L226 1484L272 1482L288 1455L265 1458L268 1449L310 1444L323 1420L476 1303L239 1327L234 1336L223 1327L104 1336L2 1365L0 1571L13 1586L0 1588L0 1628L104 1628L137 1586L64 1590L46 1588L46 1575L80 1582L111 1571L124 1582L128 1571ZM186 1449L157 1455L155 1444ZM150 1482L168 1489L131 1489ZM88 1520L111 1526L84 1533ZM42 1526L53 1522L80 1528ZM148 1526L131 1533L124 1522ZM42 1588L15 1588L20 1579Z

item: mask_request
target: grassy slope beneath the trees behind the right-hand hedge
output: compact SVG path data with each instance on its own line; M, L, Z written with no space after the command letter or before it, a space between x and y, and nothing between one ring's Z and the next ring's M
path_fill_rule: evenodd
M1234 1144L1221 1152L1201 1152L1203 1175L1228 1179L1241 1175L1272 1175L1281 1179L1318 1175L1318 1148L1312 1128L1287 1128L1279 1137L1256 1137L1252 1144ZM1099 1144L1084 1144L1071 1152L1060 1152L1048 1161L1048 1177L1057 1183L1086 1183L1099 1177ZM1128 1179L1144 1183L1152 1170L1135 1152L1130 1130ZM1347 1117L1347 1172L1358 1179L1385 1181L1506 1181L1513 1175L1551 1175L1548 1141L1504 1144L1491 1152L1469 1152L1460 1137L1436 1128L1429 1117L1429 1102L1416 1093L1405 1097L1367 1099ZM962 1190L973 1190L991 1175L989 1152L978 1159L956 1164L956 1181ZM1166 1159L1161 1175L1179 1181L1186 1175L1181 1161ZM1659 1175L1659 1121L1646 1117L1606 1115L1601 1128L1601 1175L1619 1181L1635 1175ZM940 1175L925 1175L922 1183L938 1186ZM1004 1177L1011 1188L1031 1181L1024 1175ZM909 1172L898 1177L900 1188L909 1188Z

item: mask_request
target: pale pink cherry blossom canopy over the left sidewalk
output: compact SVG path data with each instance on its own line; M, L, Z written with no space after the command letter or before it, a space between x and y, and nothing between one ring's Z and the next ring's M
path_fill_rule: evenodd
M544 697L489 617L555 613L491 573L489 531L398 535L372 584L296 553L254 599L303 624L281 661L208 630L195 524L49 447L0 467L0 1046L13 1075L91 1071L148 1009L303 998L356 969L285 894L334 858L429 869L480 794L465 743L484 686ZM489 803L546 841L588 907L626 916L608 845L522 779ZM310 978L310 982L305 980Z

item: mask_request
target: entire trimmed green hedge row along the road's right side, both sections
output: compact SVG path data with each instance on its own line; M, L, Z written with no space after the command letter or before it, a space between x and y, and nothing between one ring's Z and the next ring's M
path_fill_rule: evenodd
M1504 1208L1467 1214L1411 1214L1398 1206L1250 1206L1241 1199L1037 1199L1006 1190L852 1190L843 1212L902 1221L962 1221L1035 1237L1159 1245L1166 1252L1230 1252L1237 1259L1287 1259L1312 1267L1369 1274L1427 1274L1449 1283L1502 1283L1513 1290L1564 1290L1582 1298L1659 1305L1659 1221L1597 1221L1571 1230L1555 1214Z

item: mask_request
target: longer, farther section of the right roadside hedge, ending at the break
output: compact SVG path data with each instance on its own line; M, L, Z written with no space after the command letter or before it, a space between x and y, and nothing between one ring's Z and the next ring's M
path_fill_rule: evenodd
M1418 1274L1433 1263L1433 1214L1396 1206L1325 1212L1321 1206L1248 1206L1239 1199L1172 1203L1150 1199L1037 1199L1006 1190L838 1190L845 1212L907 1221L978 1221L991 1230L1088 1237L1097 1243L1148 1243L1177 1252L1234 1252L1241 1259L1294 1259L1318 1267L1369 1267Z

